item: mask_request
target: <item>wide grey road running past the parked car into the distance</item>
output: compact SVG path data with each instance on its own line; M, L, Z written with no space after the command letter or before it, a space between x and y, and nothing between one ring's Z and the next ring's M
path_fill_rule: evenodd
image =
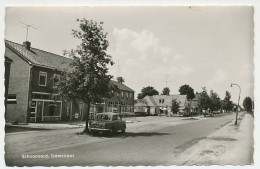
M8 166L156 166L174 165L174 160L187 148L231 122L234 114L191 120L149 132L127 132L102 137L97 142L71 144L63 147L30 152L44 158L12 158ZM71 155L71 158L52 158L52 155ZM24 154L26 155L26 154Z

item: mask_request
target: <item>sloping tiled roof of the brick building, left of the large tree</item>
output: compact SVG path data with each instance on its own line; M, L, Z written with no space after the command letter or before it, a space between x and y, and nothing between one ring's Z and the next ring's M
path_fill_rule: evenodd
M8 40L5 40L5 44L6 47L17 52L23 59L37 66L63 70L69 68L69 64L72 62L70 58L32 47L28 50L23 45Z

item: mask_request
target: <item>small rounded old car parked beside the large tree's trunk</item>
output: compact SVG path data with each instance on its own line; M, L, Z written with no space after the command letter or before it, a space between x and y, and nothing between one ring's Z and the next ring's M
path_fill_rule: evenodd
M113 134L117 131L125 133L126 121L122 120L118 113L98 113L94 119L89 121L89 130L92 133L109 132Z

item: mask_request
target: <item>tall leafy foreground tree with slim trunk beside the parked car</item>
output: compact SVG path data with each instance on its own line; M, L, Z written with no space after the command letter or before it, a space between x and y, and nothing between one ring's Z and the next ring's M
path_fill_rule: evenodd
M107 66L113 65L111 56L106 53L109 42L106 40L102 22L77 19L79 30L72 30L72 35L80 40L77 48L64 51L73 58L70 70L64 70L55 77L55 89L64 98L74 103L83 101L87 105L86 126L84 133L89 133L88 120L91 103L102 102L112 96L117 87L110 83Z

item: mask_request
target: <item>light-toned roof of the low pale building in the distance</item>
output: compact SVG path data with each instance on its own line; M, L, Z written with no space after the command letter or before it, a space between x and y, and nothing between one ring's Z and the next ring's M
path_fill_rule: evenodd
M160 106L168 107L172 105L172 100L176 99L181 107L184 107L187 100L187 95L154 95L145 96L144 100L147 102L147 106Z

